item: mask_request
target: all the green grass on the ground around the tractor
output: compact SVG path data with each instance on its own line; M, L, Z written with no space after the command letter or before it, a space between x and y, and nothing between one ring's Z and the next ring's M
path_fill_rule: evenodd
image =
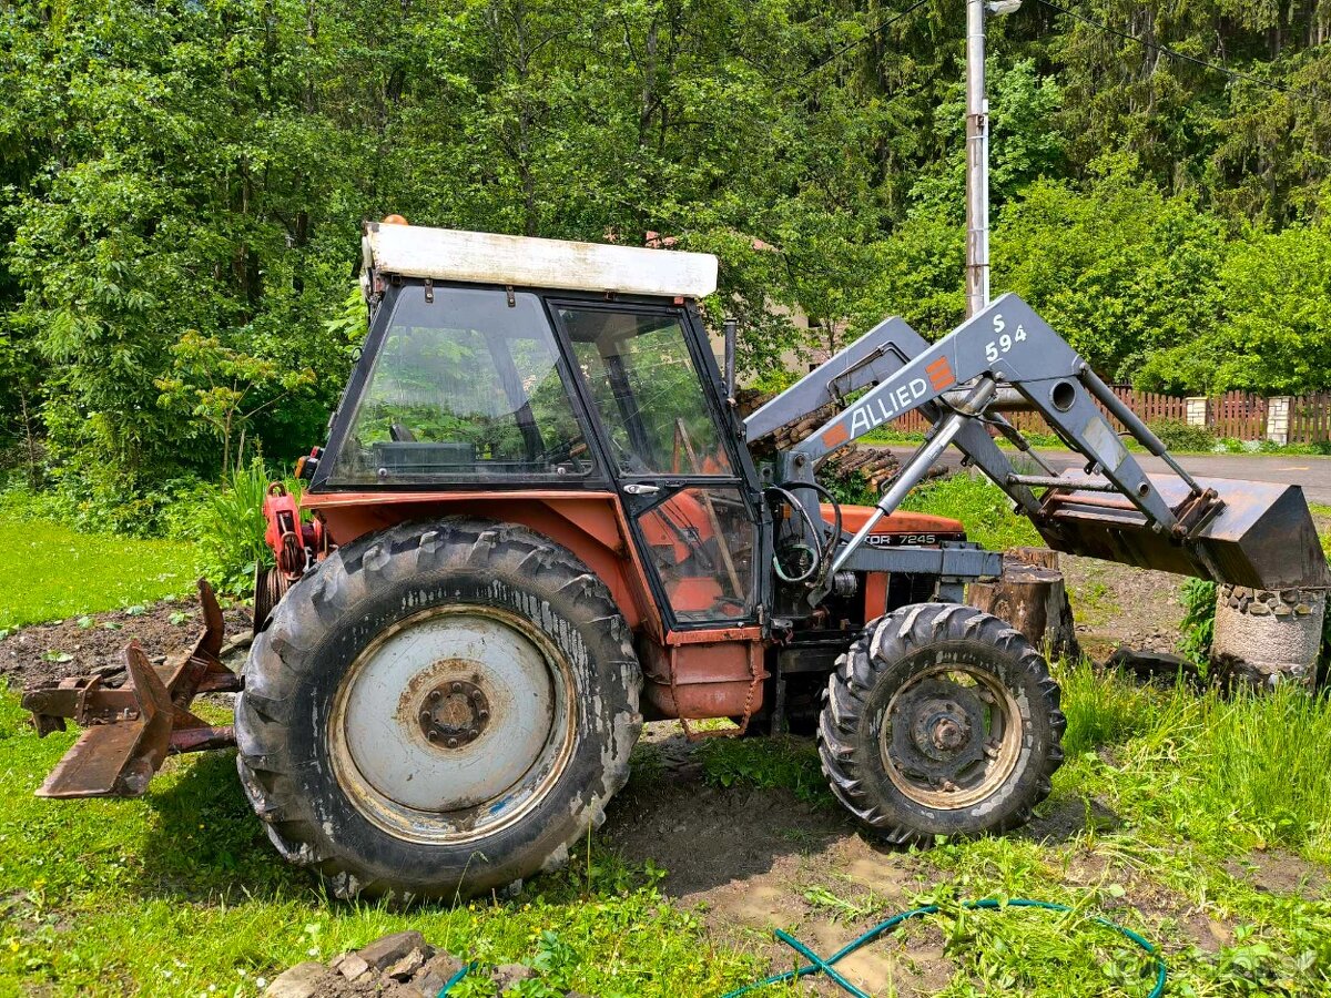
M1002 536L1016 527L996 519L989 530ZM43 567L61 563L72 535L4 520L0 531L8 542L0 548L21 543L27 551L21 584L11 566L0 591L13 620L113 607L189 580L180 560L180 575L168 575L165 560L144 556L172 550L178 558L174 546L102 539L96 562L80 562L79 587L64 588L63 576ZM88 564L98 566L96 574ZM36 579L55 588L35 582L33 566ZM121 588L108 591L106 582ZM16 592L32 609L15 611ZM912 857L930 881L906 901L944 905L929 922L957 965L938 994L1142 998L1150 982L1141 954L1087 918L1105 913L1163 946L1170 995L1331 995L1331 703L1146 689L1085 664L1065 665L1061 680L1067 762L1041 814L1046 826L1050 816L1077 820L1045 838L941 842ZM205 709L221 719L218 708ZM402 927L483 962L540 957L599 997L719 995L767 971L760 942L717 941L704 913L663 893L650 858L622 861L599 837L564 872L534 878L512 901L409 913L346 905L278 858L241 794L233 753L169 760L142 800L35 798L73 737L39 740L16 695L0 693L8 792L0 812L0 995L256 995L261 977ZM776 806L763 797L776 793L769 788L836 806L808 743L712 743L700 760L705 780L752 788L749 808ZM642 762L639 786L668 778L654 770L650 752ZM792 852L800 848L792 841ZM1280 884L1254 873L1272 862L1287 874ZM1077 912L980 915L956 905L1016 896ZM901 901L888 909L881 898L828 904L868 909L876 921ZM1213 945L1195 945L1187 919L1213 926ZM454 994L486 994L479 983Z

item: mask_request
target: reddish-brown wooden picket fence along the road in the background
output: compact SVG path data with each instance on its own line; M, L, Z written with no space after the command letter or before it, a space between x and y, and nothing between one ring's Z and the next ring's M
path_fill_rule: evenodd
M1137 391L1127 385L1113 386L1121 398L1145 422L1161 419L1189 422L1187 399L1175 395L1161 395L1154 391ZM1099 405L1099 403L1097 403ZM1271 406L1283 406L1288 413L1287 430L1280 420L1271 420ZM1101 411L1103 411L1101 406ZM1107 415L1107 413L1106 413ZM1198 414L1194 414L1194 418ZM1051 434L1049 424L1038 413L1008 413L1008 420L1021 432ZM1123 426L1109 418L1110 424L1123 431ZM921 432L929 426L918 413L908 413L894 423L902 432ZM1229 436L1238 440L1264 440L1272 432L1286 432L1287 443L1327 443L1331 442L1331 391L1292 398L1267 399L1244 391L1227 391L1218 398L1207 399L1206 426L1215 436ZM1275 436L1278 439L1278 436Z

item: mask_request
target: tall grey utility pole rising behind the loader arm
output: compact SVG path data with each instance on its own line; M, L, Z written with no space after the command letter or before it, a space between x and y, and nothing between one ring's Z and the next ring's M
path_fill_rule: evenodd
M985 15L1012 13L1021 0L966 0L966 315L989 303L989 100L985 97Z

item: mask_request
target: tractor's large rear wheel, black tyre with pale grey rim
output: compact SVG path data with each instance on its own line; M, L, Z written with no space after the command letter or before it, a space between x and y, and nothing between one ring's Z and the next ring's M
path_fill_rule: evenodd
M260 633L245 793L339 897L461 898L559 865L642 729L604 583L523 527L443 519L327 558Z

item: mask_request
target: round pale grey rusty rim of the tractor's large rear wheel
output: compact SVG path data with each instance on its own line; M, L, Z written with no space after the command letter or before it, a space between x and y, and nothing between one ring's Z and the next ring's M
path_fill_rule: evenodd
M572 756L572 671L530 620L435 607L379 633L329 720L351 805L397 838L462 844L528 816Z

